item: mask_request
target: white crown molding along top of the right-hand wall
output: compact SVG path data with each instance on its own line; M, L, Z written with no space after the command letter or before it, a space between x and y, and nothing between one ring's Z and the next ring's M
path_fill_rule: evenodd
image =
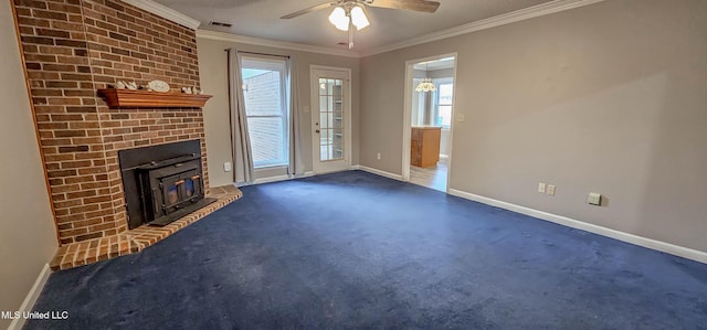
M493 18L454 26L451 29L411 38L411 39L403 40L401 42L397 42L387 46L372 49L368 52L363 52L361 56L381 54L381 53L395 51L395 50L400 50L409 46L414 46L414 45L419 45L428 42L443 40L443 39L462 35L471 32L476 32L481 30L486 30L486 29L490 29L499 25L510 24L510 23L515 23L515 22L519 22L519 21L524 21L524 20L528 20L528 19L541 17L541 15L564 11L564 10L580 8L580 7L584 7L584 6L589 6L589 4L593 4L602 1L605 1L605 0L555 0L546 3L541 3L538 6L513 11L509 13L499 14Z

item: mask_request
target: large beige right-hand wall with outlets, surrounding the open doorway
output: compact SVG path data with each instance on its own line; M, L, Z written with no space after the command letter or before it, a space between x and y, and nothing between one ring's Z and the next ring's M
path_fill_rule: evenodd
M707 252L707 1L608 0L365 57L361 164L401 173L404 62L452 52L452 189Z

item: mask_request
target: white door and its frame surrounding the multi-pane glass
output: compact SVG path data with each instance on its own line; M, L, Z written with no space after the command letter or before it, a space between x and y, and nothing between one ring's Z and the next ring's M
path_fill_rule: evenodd
M314 106L310 108L310 117L312 117L312 170L314 174L321 174L327 172L336 172L348 170L351 167L351 68L348 67L336 67L336 66L326 66L326 65L309 65L309 104L319 104L319 76L316 74L317 71L335 71L342 72L346 74L346 88L344 95L344 163L340 168L336 169L323 169L317 168L319 166L319 151L320 150L320 141L319 135L315 132L317 129L316 123L319 121L319 109ZM316 116L315 116L316 115Z

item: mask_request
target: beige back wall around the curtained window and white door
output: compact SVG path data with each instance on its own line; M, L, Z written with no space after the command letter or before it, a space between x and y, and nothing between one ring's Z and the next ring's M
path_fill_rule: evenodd
M231 161L228 70L225 49L235 46L240 51L261 52L267 54L289 55L297 65L297 84L299 89L299 123L302 125L304 160L306 171L312 171L312 120L310 114L303 108L309 106L309 66L325 65L351 68L351 164L358 164L358 127L359 127L359 60L354 57L316 54L292 50L281 50L249 44L236 44L228 41L197 39L199 53L199 74L205 94L213 95L203 108L204 128L207 132L207 152L209 175L212 187L233 183L232 172L223 171L223 163ZM283 174L270 171L258 177Z

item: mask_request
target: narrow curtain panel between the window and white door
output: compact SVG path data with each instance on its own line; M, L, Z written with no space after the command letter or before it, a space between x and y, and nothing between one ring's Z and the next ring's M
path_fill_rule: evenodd
M289 175L304 174L305 163L303 160L302 141L299 137L299 102L297 89L297 66L292 57L286 61L286 83L287 83L287 106L289 107L289 164L287 173Z

